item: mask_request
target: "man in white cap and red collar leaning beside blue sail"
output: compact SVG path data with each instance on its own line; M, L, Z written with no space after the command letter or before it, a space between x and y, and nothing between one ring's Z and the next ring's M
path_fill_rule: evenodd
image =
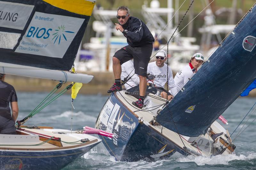
M183 67L174 77L174 82L179 91L188 81L193 73L196 73L197 68L204 62L204 56L201 53L196 53L191 58L188 65Z

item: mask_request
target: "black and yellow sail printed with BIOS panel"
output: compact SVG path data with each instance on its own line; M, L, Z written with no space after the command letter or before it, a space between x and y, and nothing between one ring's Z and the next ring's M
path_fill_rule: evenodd
M1 0L0 62L70 70L94 4L86 0Z

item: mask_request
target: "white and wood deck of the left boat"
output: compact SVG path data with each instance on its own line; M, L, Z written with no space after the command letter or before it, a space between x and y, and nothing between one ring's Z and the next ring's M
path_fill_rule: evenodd
M75 131L65 129L28 129L17 130L19 135L0 135L0 150L61 150L74 147L84 147L98 143L100 139L87 134L77 134ZM60 141L48 140L55 137ZM87 140L81 142L82 139Z

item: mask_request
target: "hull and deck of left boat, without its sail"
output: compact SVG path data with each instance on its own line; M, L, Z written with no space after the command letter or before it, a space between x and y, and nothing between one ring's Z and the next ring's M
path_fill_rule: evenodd
M17 135L0 134L1 169L61 169L101 140L76 131L21 127Z

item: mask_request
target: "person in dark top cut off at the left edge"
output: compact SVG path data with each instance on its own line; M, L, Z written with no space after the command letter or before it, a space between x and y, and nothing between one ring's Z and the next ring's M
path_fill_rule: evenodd
M15 122L19 113L18 99L14 87L4 82L4 78L5 74L0 74L0 134L16 134Z

